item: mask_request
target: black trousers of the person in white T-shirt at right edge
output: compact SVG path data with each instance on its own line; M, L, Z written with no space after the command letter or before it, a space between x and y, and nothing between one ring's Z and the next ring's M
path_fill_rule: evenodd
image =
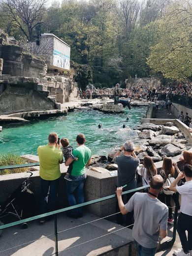
M188 231L188 239L186 236L186 230ZM177 232L181 240L181 245L185 254L192 250L192 216L180 213L177 222Z

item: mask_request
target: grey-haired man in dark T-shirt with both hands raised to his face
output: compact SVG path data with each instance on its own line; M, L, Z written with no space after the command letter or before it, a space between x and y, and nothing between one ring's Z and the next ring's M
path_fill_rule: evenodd
M120 156L122 151L124 151L124 155ZM124 187L125 185L127 185L126 187L124 187L124 191L135 189L137 187L136 172L140 160L134 153L134 144L131 141L126 141L126 143L121 146L121 148L114 157L114 163L118 165L116 187ZM123 200L128 201L132 195L133 193L123 195ZM116 210L117 212L120 211L118 202L116 205ZM126 215L126 225L130 225L133 223L132 218L132 212ZM117 214L117 223L121 225L124 224L123 215L121 213Z

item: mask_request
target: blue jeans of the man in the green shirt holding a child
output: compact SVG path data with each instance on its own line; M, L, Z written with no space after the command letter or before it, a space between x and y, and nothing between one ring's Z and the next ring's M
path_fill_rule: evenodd
M70 178L72 181L66 182L66 193L67 193L67 199L70 206L84 203L84 192L83 192L83 186L86 179L86 174L80 175L80 176L72 176L70 175ZM74 196L74 192L76 192L76 198ZM82 213L83 209L82 207L71 210L71 214L77 215L79 213Z

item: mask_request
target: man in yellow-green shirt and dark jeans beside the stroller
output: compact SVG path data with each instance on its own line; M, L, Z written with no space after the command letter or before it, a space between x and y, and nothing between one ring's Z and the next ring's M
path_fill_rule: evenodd
M60 150L61 144L58 144L57 133L50 133L48 141L47 145L39 146L37 149L40 163L41 214L56 210L57 191L61 177L60 163L63 162L63 153ZM44 222L45 219L40 220L40 223Z

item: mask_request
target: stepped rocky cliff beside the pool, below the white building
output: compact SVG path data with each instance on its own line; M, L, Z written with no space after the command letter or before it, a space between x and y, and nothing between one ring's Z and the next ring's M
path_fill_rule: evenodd
M68 76L47 74L45 61L10 44L0 32L0 114L61 109L78 97L73 71Z

